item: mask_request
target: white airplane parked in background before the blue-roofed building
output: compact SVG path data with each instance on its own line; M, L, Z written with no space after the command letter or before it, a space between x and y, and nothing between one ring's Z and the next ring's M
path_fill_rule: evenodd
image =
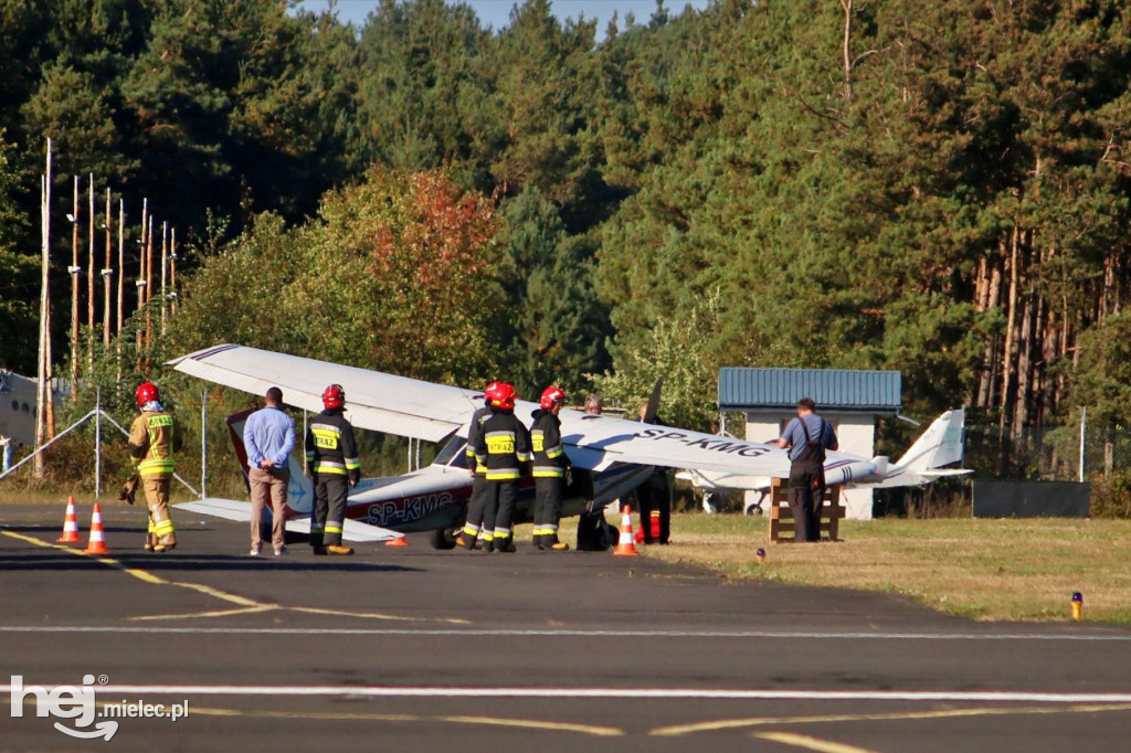
M852 486L864 488L924 486L947 476L965 476L974 473L967 468L947 468L962 461L965 421L964 408L947 410L934 419L895 465L888 465L887 458L874 458L872 462L877 466L877 473L870 477L854 479ZM840 460L828 461L824 465L824 476L830 484L845 483L840 481L838 474L846 465L865 461L864 458L854 458L847 453L841 456ZM676 474L676 478L689 481L697 490L705 492L761 492L761 499L743 502L743 512L746 514L753 514L761 509L771 482L767 476L696 469L681 470Z

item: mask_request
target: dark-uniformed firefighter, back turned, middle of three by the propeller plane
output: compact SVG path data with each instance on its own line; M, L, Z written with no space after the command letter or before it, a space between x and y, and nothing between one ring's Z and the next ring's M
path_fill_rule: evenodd
M530 461L530 434L515 417L518 392L501 383L487 396L491 415L475 438L475 459L486 468L483 490L483 551L515 552L511 520L525 464Z

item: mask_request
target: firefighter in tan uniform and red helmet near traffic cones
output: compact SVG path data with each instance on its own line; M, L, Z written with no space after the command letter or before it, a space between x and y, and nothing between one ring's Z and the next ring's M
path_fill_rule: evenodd
M135 473L122 488L120 499L133 502L140 485L149 508L149 529L145 537L147 552L169 552L176 546L173 519L169 517L169 486L173 481L173 416L161 405L161 392L153 382L139 384L138 409L141 412L130 426L130 459Z

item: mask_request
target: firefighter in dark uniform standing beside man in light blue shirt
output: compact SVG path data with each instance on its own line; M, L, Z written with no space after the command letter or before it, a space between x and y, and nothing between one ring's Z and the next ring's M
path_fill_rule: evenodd
M310 521L310 546L314 554L353 554L342 545L349 486L361 481L361 460L353 426L342 415L346 392L340 384L322 391L326 408L307 429L307 464L314 482L314 511Z

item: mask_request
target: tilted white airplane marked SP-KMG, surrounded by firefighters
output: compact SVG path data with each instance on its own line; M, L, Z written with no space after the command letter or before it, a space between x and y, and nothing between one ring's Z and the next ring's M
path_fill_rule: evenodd
M472 487L464 451L467 425L483 405L482 392L241 345L198 350L166 365L253 395L278 387L288 405L314 413L322 408L326 386L342 384L347 416L356 429L428 442L447 441L432 465L403 476L364 479L353 488L343 538L388 543L406 533L432 531L433 546L454 546L454 534L463 526ZM520 400L515 413L527 419L536 407ZM562 410L560 417L562 444L575 468L563 504L567 517L623 496L657 466L724 476L784 478L789 474L788 456L776 444L577 410ZM242 451L240 422L240 414L230 422L238 453ZM241 462L245 467L245 458ZM889 473L886 458L864 460L829 452L827 464L830 484L882 482ZM286 527L309 533L313 501L310 482L293 456L291 470ZM527 479L526 484L516 505L516 522L532 519L533 482ZM206 499L176 507L230 520L251 519L250 503L235 500Z

